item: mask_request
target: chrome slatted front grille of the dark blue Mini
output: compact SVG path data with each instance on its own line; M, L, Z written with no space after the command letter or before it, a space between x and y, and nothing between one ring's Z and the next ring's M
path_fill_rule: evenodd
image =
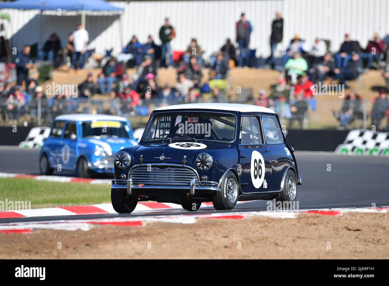
M190 186L191 178L198 180L194 170L180 165L150 165L134 167L130 172L133 185Z

